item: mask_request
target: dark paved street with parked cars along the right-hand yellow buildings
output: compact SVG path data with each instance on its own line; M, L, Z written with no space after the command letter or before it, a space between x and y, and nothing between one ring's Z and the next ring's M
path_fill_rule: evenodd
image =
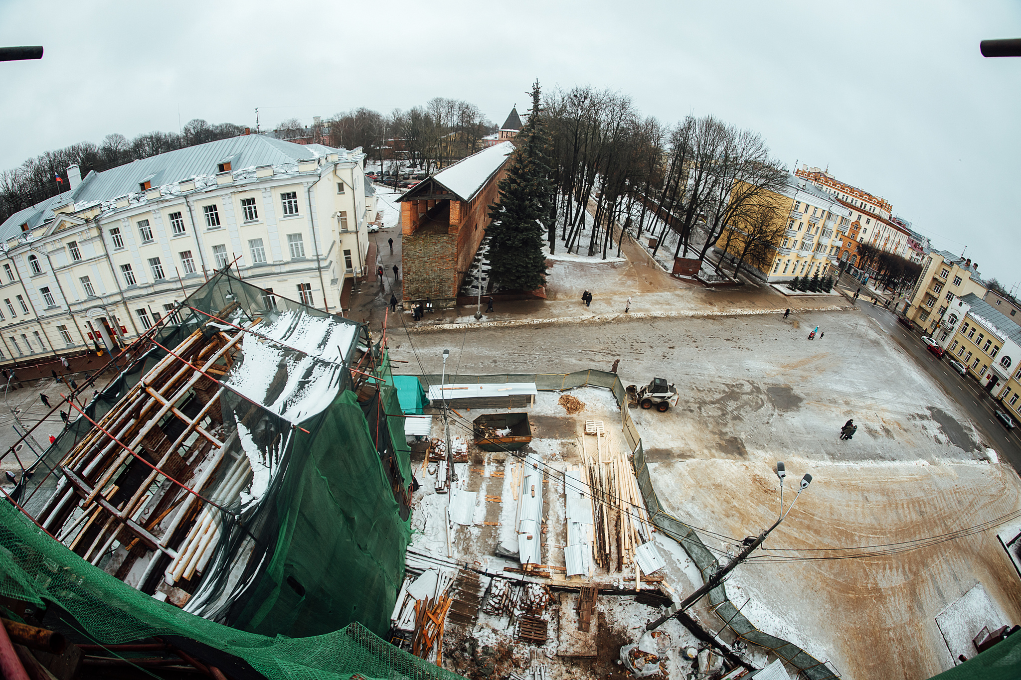
M985 442L999 456L1010 461L1015 470L1021 472L1021 438L1018 437L1017 430L1008 431L993 417L994 404L982 385L974 378L955 371L950 365L949 358L937 359L926 349L925 343L921 341L921 335L897 323L896 315L893 312L873 306L864 300L860 300L858 305L897 341L915 358L915 361L925 368L936 382L946 390L951 398L961 405L971 417L972 422L975 423Z

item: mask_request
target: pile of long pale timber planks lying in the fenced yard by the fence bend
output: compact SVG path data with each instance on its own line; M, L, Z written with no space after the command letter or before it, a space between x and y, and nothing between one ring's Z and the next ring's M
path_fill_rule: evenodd
M627 454L606 447L601 420L585 421L586 435L595 437L595 456L591 456L582 437L582 458L587 473L583 481L592 488L594 526L593 559L609 572L635 572L635 587L640 575L634 561L635 548L651 538L651 524L638 489L634 470Z

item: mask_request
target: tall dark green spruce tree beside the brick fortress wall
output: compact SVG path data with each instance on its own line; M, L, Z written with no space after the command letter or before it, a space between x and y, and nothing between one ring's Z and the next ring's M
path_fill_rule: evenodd
M546 283L545 234L553 188L549 137L539 111L539 83L532 86L532 112L515 138L518 149L498 187L500 202L489 209L489 274L505 291L534 291Z

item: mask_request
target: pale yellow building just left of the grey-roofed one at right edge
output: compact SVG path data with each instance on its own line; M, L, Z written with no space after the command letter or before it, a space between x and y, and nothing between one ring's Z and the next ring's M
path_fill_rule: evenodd
M931 251L904 313L932 334L955 296L963 298L974 293L981 298L985 291L977 263L946 251Z

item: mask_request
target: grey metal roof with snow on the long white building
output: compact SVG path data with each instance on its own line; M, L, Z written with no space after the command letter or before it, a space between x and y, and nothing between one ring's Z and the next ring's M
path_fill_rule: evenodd
M264 135L242 135L141 158L102 172L89 172L74 190L11 215L0 225L0 240L6 241L18 233L26 221L30 228L49 221L53 218L52 208L67 200L74 200L76 204L111 201L138 193L139 185L145 181L155 188L196 176L213 175L221 163L229 162L232 171L236 172L257 165L293 166L299 161L315 160L329 153L337 153L341 161L361 158L356 151L320 144L292 144Z

